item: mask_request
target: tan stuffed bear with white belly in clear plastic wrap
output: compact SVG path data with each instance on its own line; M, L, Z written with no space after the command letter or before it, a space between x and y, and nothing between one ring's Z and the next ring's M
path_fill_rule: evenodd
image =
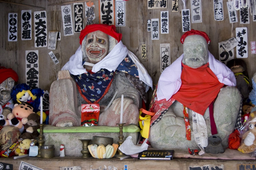
M248 122L248 131L243 134L242 144L238 147L238 151L244 154L256 151L256 117L254 116L252 120L246 122Z

